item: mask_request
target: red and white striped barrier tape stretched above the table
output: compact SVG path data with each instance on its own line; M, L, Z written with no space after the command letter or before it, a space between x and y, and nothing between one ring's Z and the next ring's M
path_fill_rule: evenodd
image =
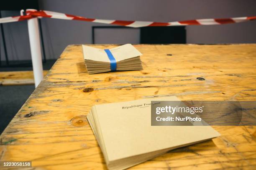
M25 16L7 17L0 18L0 23L10 23L21 20L28 20L35 17L44 18L56 18L62 20L80 20L93 23L104 23L112 25L122 25L127 27L139 28L139 27L150 27L150 26L177 26L177 25L220 25L220 24L230 24L230 23L241 23L250 20L256 20L256 16L253 17L237 17L237 18L218 18L218 19L198 19L198 20L185 20L185 21L175 21L169 23L151 22L151 21L124 21L124 20L101 20L84 18L76 15L69 15L64 13L56 13L46 10L27 10Z

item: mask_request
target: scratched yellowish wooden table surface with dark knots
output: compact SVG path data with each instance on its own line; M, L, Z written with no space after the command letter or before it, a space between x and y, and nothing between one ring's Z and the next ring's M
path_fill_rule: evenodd
M82 46L69 45L1 134L0 160L32 161L28 169L38 170L105 169L86 119L95 104L171 95L256 100L256 44L135 47L144 70L88 75ZM256 169L255 126L213 128L220 137L133 169Z

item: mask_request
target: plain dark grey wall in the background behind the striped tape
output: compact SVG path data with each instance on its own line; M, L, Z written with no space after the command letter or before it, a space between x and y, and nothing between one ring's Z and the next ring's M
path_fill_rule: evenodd
M39 0L41 10L87 18L171 22L200 18L229 18L256 15L256 0ZM4 16L19 12L2 12ZM92 26L82 21L42 19L47 59L59 57L69 44L92 43ZM187 26L187 43L256 43L256 21L211 26ZM4 24L11 60L29 60L26 21ZM137 42L139 32L98 30L96 42ZM131 35L134 37L131 38ZM109 39L109 37L113 37ZM4 59L1 43L1 59Z

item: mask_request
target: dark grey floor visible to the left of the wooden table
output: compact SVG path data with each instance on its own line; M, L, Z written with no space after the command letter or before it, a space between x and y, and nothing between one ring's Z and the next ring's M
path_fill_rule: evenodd
M49 70L55 61L56 60L47 60L47 62L43 64L44 70ZM6 66L3 62L1 64L0 72L32 70L31 65L16 67ZM0 134L13 119L18 110L20 110L20 107L26 102L34 89L34 85L0 86Z

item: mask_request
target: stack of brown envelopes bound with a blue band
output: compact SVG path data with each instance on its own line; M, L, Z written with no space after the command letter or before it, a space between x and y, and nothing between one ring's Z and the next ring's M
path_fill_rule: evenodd
M143 70L140 56L133 45L125 44L111 49L82 45L84 61L89 74L109 71Z

